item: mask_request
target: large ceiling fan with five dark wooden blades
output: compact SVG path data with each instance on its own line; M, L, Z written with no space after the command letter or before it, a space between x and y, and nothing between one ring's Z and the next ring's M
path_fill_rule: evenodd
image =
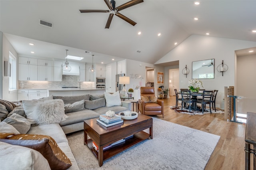
M137 24L136 22L134 22L133 20L130 20L129 18L127 18L126 16L122 15L119 13L120 10L124 10L126 8L129 8L131 6L134 6L136 4L140 4L141 2L143 2L143 0L131 0L125 4L122 4L118 7L116 7L116 1L111 0L109 2L109 0L104 0L105 3L107 4L108 8L110 10L80 10L80 12L109 12L109 16L108 16L108 21L107 24L105 26L105 28L109 28L110 23L112 21L112 18L114 15L118 16L119 18L125 20L126 22L128 22L129 24L132 24L133 26L135 26L135 24Z

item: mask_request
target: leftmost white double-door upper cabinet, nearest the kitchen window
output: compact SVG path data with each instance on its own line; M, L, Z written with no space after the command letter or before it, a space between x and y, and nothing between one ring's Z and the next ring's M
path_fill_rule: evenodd
M19 64L19 80L37 81L37 65Z

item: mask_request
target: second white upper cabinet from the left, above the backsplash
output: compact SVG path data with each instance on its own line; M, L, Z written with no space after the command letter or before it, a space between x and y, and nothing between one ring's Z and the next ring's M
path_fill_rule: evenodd
M38 81L54 81L54 67L38 65Z

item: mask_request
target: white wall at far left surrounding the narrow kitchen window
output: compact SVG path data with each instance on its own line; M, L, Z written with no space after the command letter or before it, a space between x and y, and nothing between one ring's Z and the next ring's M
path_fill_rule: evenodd
M3 35L3 51L2 51L2 62L9 61L9 51L16 57L16 65L18 65L18 53L12 47L7 38ZM4 72L3 72L4 74ZM18 77L18 70L16 71ZM17 82L18 83L18 82ZM17 84L18 87L18 84ZM8 101L18 101L18 92L9 91L9 77L4 77L2 81L2 99Z

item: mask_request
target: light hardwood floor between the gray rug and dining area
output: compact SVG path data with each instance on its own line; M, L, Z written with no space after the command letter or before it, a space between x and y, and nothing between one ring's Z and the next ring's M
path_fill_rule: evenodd
M164 119L160 115L154 117L220 136L205 170L244 170L246 125L224 121L224 113L204 115L176 113L168 107L175 105L175 96L162 100Z

